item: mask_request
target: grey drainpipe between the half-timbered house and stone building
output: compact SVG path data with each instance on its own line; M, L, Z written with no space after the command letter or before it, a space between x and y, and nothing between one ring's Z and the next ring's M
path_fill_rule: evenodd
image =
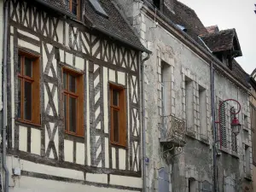
M142 65L141 65L141 94L142 94L142 118L143 118L143 192L146 192L147 190L147 183L146 183L146 120L145 120L145 97L144 97L144 72L145 72L145 66L144 62L147 61L150 57L150 54L143 59Z

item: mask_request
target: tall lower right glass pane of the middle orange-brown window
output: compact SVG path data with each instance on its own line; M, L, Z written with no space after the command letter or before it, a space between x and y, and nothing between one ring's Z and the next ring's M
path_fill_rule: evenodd
M69 131L76 132L77 128L77 100L69 97Z

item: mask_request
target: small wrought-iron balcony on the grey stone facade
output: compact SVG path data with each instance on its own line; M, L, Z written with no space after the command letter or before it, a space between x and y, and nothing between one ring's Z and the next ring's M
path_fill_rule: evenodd
M168 115L161 117L160 123L160 143L164 145L172 144L174 147L185 145L186 124L182 119Z

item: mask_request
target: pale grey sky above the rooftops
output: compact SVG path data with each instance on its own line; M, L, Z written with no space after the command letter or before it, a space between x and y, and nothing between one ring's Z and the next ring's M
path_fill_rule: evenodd
M219 30L236 28L242 56L237 57L249 74L256 68L256 0L179 0L194 9L204 26Z

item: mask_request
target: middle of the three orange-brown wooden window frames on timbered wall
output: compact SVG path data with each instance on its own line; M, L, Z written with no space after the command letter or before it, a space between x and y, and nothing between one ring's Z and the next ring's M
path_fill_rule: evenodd
M73 93L69 91L68 87L67 90L64 88L64 72L67 74L72 74L75 76L76 80L76 93ZM84 137L84 74L79 73L73 69L67 68L67 67L62 67L61 70L61 76L62 76L62 84L63 84L63 92L62 92L62 102L63 102L63 113L64 113L64 125L65 125L65 111L64 111L64 97L67 96L67 130L66 126L64 126L64 131L68 135L73 135L76 137ZM67 86L69 86L67 78ZM77 99L77 108L76 108L76 113L77 113L77 122L76 122L76 132L69 131L69 97L74 97Z

